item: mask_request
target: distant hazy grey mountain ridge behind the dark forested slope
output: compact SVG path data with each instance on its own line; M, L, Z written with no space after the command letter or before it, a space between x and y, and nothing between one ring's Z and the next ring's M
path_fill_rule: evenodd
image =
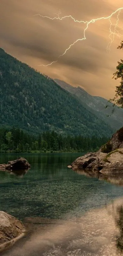
M113 109L112 107L113 103L107 103L107 100L102 97L92 96L79 86L73 87L67 84L66 82L63 82L58 79L54 79L54 81L58 85L60 85L63 89L67 90L72 95L75 95L78 98L78 100L81 102L81 104L89 112L98 116L105 123L110 125L114 130L114 132L123 126L123 109L122 108L116 107L114 113L111 114L111 111ZM107 104L110 107L105 108ZM111 116L107 117L107 115L110 115L110 114Z

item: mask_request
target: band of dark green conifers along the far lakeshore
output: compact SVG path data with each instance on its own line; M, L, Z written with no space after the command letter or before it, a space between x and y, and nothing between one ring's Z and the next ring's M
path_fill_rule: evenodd
M55 131L47 131L34 136L19 128L1 127L0 152L87 152L98 150L108 139L80 135L63 137Z

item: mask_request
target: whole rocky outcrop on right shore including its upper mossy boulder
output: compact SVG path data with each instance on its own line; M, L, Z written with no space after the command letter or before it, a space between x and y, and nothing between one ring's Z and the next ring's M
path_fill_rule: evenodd
M123 173L123 127L98 152L78 157L71 166L73 170L91 170L102 174Z

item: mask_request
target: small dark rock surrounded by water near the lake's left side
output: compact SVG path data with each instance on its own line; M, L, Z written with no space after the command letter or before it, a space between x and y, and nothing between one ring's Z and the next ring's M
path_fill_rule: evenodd
M0 164L0 170L25 170L30 168L31 165L23 157L19 157L16 160L9 161L7 164Z

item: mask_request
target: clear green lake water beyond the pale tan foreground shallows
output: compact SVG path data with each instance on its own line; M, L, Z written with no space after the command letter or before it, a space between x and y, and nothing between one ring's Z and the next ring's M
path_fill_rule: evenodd
M123 187L68 169L79 154L24 154L31 164L25 175L0 171L0 210L17 218L75 219L91 208L123 195ZM0 163L20 155L0 155Z

